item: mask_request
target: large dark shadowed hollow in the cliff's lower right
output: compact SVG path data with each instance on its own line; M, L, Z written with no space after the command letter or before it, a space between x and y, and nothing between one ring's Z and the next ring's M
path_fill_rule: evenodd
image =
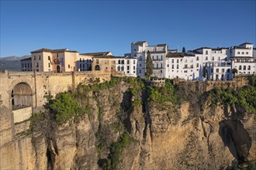
M251 137L238 120L223 120L219 134L225 146L238 162L246 162L251 148Z

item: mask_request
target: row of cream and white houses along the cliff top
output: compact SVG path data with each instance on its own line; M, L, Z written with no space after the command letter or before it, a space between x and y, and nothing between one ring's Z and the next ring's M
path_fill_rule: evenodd
M126 76L145 76L147 52L153 62L153 75L157 78L184 80L232 80L237 74L256 73L256 48L245 42L229 48L188 50L168 49L167 44L148 46L147 41L131 43L130 53L112 56L111 52L78 53L69 49L38 49L31 57L21 60L22 71L72 72L99 71L124 72Z

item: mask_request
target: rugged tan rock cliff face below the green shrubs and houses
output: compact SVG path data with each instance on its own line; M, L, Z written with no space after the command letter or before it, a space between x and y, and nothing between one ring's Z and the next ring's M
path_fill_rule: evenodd
M62 125L54 114L32 122L28 168L223 169L256 159L256 122L244 107L212 106L193 93L182 104L159 104L140 88L123 80L78 87L88 114Z

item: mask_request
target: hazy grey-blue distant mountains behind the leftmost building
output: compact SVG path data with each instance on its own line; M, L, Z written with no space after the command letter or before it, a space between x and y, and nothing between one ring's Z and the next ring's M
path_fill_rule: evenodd
M29 55L0 57L0 70L21 70L20 59L29 57Z

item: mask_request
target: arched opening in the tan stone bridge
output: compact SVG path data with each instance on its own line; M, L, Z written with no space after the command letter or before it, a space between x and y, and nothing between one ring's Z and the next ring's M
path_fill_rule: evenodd
M33 89L28 83L17 83L12 88L12 107L32 107Z

